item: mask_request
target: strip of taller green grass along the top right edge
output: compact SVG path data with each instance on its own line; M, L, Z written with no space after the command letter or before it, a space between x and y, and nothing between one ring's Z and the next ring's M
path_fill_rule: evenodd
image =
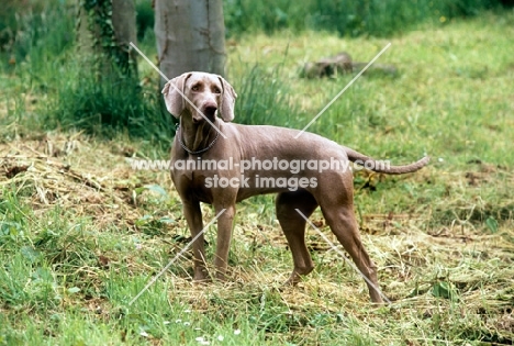
M442 25L448 20L473 16L484 9L498 9L495 0L228 0L224 2L228 35L267 34L305 29L336 32L342 36L387 37L423 25Z

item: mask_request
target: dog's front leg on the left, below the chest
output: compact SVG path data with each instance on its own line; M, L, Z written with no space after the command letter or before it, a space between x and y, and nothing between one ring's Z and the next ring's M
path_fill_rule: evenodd
M183 214L188 222L191 236L194 238L203 230L202 211L199 201L183 201ZM194 260L194 280L203 281L208 279L205 267L205 247L203 234L192 244Z

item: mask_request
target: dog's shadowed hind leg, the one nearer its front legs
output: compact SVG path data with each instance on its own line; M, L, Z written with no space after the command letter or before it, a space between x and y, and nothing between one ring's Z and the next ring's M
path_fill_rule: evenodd
M291 248L294 268L287 284L297 284L300 276L308 275L314 269L311 254L305 246L305 219L297 211L299 209L305 216L310 216L317 208L314 197L305 191L281 192L276 200L277 219Z

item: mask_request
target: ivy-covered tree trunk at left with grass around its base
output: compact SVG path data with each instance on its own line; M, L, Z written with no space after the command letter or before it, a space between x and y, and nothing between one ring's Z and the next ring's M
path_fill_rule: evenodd
M136 41L134 0L78 0L77 14L80 82L67 97L72 116L93 133L99 125L141 131L145 105L130 46Z

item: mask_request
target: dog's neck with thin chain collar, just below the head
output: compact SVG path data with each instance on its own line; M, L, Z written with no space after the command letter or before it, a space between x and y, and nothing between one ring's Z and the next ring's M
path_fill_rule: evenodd
M212 123L217 126L217 118ZM206 148L216 138L216 129L208 121L194 123L191 116L187 114L180 118L180 133L182 143L191 152L198 152Z

